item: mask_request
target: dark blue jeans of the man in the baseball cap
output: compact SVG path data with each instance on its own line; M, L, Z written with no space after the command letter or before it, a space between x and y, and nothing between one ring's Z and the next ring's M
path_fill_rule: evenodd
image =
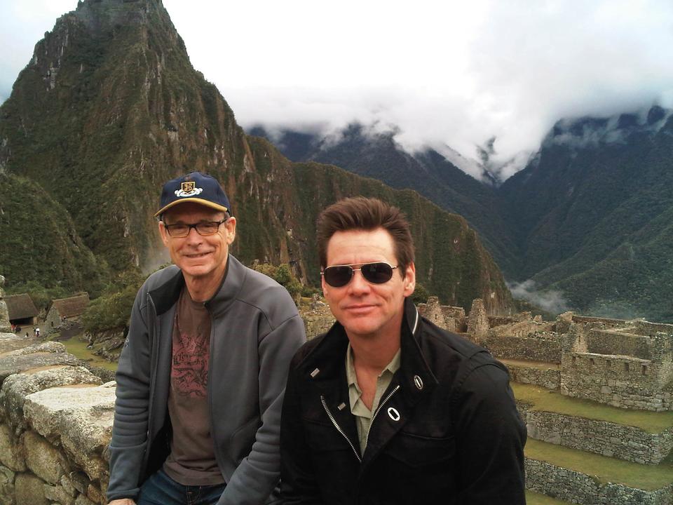
M140 488L137 505L215 505L226 484L186 486L160 469Z

